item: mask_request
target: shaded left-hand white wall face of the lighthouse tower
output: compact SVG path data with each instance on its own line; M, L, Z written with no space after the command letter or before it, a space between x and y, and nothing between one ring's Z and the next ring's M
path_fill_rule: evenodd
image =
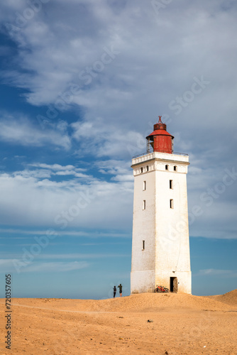
M145 292L155 283L155 165L143 165L134 180L133 244L131 268L131 292ZM143 182L146 190L143 190ZM143 200L145 209L143 210ZM145 250L142 250L142 241Z

